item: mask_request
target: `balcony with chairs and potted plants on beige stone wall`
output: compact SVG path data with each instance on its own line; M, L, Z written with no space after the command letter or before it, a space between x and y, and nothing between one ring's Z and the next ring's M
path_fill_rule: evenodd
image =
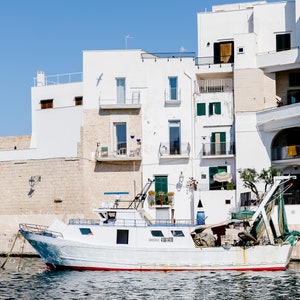
M141 148L127 149L120 148L119 150L109 151L108 147L97 148L95 152L97 161L141 161Z

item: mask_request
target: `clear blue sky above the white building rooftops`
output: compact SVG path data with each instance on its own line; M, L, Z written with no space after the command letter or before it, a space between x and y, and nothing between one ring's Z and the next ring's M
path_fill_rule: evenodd
M276 1L276 0L275 0ZM197 52L197 12L235 0L1 0L0 136L31 134L31 87L82 71L82 51Z

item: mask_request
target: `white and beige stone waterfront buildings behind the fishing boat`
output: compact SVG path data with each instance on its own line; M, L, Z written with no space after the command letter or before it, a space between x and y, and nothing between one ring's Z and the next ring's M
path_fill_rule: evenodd
M8 231L28 218L50 223L114 200L127 206L149 178L150 216L197 222L204 210L215 223L251 205L238 170L270 166L299 175L286 200L297 228L299 8L300 0L257 1L198 13L197 57L84 51L81 74L39 71L32 135L1 139ZM231 182L216 181L220 172Z

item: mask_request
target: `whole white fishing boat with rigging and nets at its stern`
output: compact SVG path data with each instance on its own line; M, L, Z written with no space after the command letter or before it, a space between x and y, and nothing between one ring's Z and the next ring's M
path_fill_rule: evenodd
M51 269L284 270L299 237L288 231L281 201L291 179L275 177L255 212L236 213L235 219L216 225L152 220L139 209L146 198L142 191L129 208L95 209L97 220L20 224L19 231ZM271 218L275 201L280 233Z

